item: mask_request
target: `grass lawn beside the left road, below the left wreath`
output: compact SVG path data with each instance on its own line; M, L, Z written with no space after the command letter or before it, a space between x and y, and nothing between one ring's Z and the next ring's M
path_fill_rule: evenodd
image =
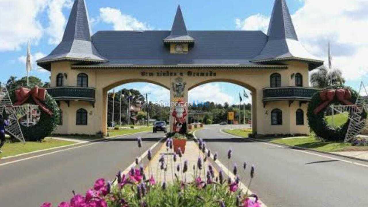
M23 154L26 152L33 152L37 150L45 150L53 147L61 147L70 144L74 144L73 141L63 141L52 138L45 138L42 142L33 142L28 141L25 144L17 142L17 143L5 143L5 145L1 148L3 153L0 154L0 157L8 157L18 154Z

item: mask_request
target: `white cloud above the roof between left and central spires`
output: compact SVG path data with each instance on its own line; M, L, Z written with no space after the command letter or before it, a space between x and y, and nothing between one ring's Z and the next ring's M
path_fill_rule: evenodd
M122 14L120 10L111 7L100 8L100 17L103 22L113 24L114 30L149 30L151 27L145 22Z

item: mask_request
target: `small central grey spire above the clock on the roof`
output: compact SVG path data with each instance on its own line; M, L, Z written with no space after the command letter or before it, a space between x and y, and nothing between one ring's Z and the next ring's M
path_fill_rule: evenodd
M187 27L183 14L181 13L180 5L176 10L173 27L171 28L170 36L164 39L164 42L194 42L194 39L188 35Z

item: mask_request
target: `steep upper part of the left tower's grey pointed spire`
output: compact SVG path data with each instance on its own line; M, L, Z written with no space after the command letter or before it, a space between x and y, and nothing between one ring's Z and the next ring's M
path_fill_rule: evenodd
M74 39L91 41L90 31L85 0L75 0L65 28L63 41Z

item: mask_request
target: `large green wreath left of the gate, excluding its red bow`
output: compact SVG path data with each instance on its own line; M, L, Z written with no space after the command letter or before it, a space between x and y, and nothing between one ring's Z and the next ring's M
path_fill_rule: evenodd
M11 90L9 92L11 101L13 103L16 102L15 98L15 90ZM28 98L28 100L24 103L29 103L36 105L32 98ZM49 136L57 127L57 123L60 123L61 114L59 106L57 105L55 99L49 95L45 94L45 101L42 102L46 108L48 108L53 114L50 116L48 113L40 110L40 119L39 121L30 127L23 126L20 124L23 136L25 141L41 141L45 137Z

